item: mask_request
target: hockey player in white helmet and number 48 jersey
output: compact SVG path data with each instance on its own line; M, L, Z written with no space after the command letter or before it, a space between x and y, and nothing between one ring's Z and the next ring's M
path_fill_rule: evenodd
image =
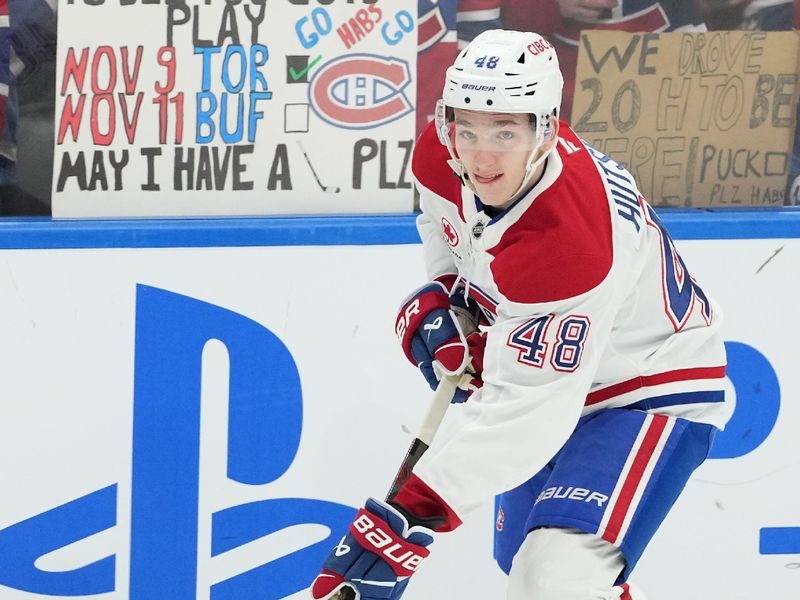
M509 600L630 597L730 416L719 308L630 173L558 120L561 88L534 33L485 32L447 71L413 160L430 281L396 331L432 386L474 378L399 492L344 532L316 599L400 598L434 532L501 492Z

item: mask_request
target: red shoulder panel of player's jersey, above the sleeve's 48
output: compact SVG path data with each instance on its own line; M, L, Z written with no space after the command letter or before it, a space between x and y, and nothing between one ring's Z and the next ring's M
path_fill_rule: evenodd
M498 290L525 304L588 292L611 270L614 245L608 196L583 142L561 123L563 170L491 251Z

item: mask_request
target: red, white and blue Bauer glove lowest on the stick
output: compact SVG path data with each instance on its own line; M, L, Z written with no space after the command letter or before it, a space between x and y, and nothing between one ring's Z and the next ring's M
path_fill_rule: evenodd
M361 600L397 600L430 551L430 529L409 527L389 504L370 498L331 551L311 584L315 600L327 600L344 586Z

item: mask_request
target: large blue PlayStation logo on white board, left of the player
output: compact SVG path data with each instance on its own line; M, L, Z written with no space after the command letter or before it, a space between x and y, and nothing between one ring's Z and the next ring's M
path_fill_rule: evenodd
M0 531L0 585L62 597L118 592L131 600L195 600L200 519L210 520L212 557L299 524L336 532L347 527L355 509L305 498L270 498L200 514L202 353L210 340L222 342L229 358L227 478L262 485L289 469L303 405L297 367L283 342L230 310L140 285L131 496L120 498L111 484ZM130 503L130 523L117 520L121 502ZM37 566L45 554L127 527L127 594L115 580L117 554L124 555L124 548L72 570ZM333 543L331 534L215 583L210 598L273 600L297 593L311 584Z

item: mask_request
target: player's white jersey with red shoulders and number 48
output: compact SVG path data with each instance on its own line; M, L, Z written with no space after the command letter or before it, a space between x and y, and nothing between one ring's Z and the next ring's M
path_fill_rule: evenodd
M427 274L457 274L493 323L484 385L448 410L405 506L432 490L455 527L600 409L724 426L722 314L621 165L562 122L541 179L492 217L448 158L429 126L413 160Z

